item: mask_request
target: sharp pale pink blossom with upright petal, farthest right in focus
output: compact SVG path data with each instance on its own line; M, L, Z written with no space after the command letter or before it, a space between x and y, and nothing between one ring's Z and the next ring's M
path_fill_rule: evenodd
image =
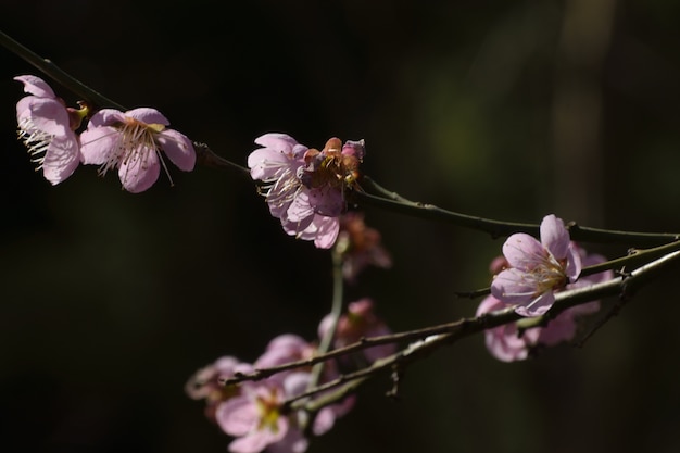
M503 244L509 268L491 284L493 297L517 305L521 316L538 316L555 302L554 292L572 284L581 272L581 259L561 218L551 214L541 222L541 241L524 234L512 235Z

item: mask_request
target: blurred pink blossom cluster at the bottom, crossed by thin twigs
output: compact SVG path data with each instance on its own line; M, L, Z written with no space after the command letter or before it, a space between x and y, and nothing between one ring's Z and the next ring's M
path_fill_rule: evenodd
M319 324L319 338L328 334L329 316ZM348 312L338 319L333 343L340 348L360 338L389 332L375 314L373 302L363 299L350 303ZM294 334L284 334L269 341L253 363L241 362L230 355L221 357L189 379L187 394L194 400L203 400L206 417L234 438L229 444L230 452L256 453L267 449L272 452L302 453L307 449L308 433L320 436L331 429L336 419L354 406L355 397L324 406L315 414L292 411L288 403L311 388L339 377L340 370L352 366L352 363L326 361L317 382L313 381L308 367L282 370L266 379L245 380L238 385L224 382L259 369L311 358L318 353L317 344ZM370 364L393 352L392 344L374 347L363 351L363 358ZM316 394L319 395L323 393Z

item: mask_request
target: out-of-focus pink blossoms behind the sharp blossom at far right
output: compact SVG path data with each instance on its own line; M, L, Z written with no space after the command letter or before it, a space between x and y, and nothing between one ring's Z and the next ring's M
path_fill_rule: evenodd
M571 242L571 247L579 253L582 266L593 266L606 261L600 254L587 254L585 251ZM504 257L494 259L491 268L501 272L506 267ZM614 278L612 270L581 277L574 284L567 284L565 290L585 287ZM493 297L484 298L477 309L477 316L496 310L505 309L507 305ZM493 327L484 331L487 349L495 358L502 362L522 361L536 354L542 348L554 347L565 341L570 341L576 336L580 319L600 310L600 301L592 301L585 304L576 305L559 313L555 318L550 319L545 326L519 329L515 323Z

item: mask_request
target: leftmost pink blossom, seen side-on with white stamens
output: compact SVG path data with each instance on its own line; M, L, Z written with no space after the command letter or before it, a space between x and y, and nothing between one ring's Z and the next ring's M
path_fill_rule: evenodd
M42 176L56 185L71 176L80 162L75 130L88 109L66 108L40 77L22 75L14 80L24 84L24 91L29 95L16 104L18 138L28 148L36 169L42 169Z

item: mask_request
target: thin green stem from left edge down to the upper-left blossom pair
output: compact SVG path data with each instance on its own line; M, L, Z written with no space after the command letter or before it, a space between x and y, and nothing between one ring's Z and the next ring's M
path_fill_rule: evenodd
M90 87L83 84L80 80L67 74L65 71L63 71L62 68L56 66L54 63L52 63L52 61L48 59L43 59L42 56L38 55L33 50L18 43L17 41L15 41L14 39L12 39L10 36L8 36L5 33L1 30L0 30L0 45L2 45L4 48L9 49L11 52L15 53L16 55L21 56L22 59L24 59L26 62L37 67L42 73L50 76L52 79L54 79L56 83L59 83L63 87L67 88L68 90L81 97L83 100L88 101L91 104L90 106L93 108L95 110L101 109L104 106L111 106L111 108L123 110L123 111L127 110L123 105L95 91Z

